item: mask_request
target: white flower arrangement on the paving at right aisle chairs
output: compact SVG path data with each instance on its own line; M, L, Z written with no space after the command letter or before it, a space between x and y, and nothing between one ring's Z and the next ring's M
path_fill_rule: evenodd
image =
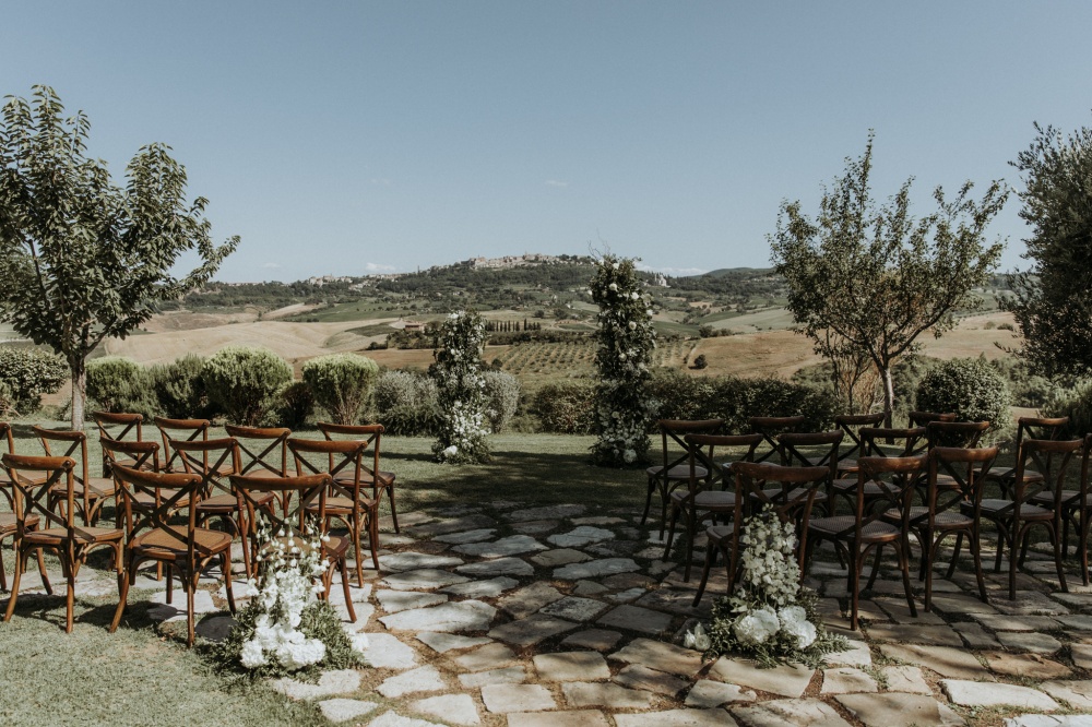
M745 521L739 536L741 573L735 592L713 604L708 634L696 629L686 644L719 656L753 657L761 666L799 663L816 668L823 654L848 643L829 633L816 611L818 596L800 585L794 550L796 533L772 511Z

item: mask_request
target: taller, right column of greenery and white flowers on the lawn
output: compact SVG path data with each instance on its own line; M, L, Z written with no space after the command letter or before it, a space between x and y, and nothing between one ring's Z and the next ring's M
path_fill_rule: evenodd
M591 282L598 305L598 350L595 365L596 464L628 466L643 463L649 452L649 426L656 402L649 397L650 365L656 347L651 298L641 291L632 260L603 255Z

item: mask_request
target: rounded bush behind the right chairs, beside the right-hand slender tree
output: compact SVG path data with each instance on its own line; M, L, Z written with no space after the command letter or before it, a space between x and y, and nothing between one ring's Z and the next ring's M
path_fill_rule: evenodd
M922 412L954 412L957 421L989 421L995 433L1010 424L1005 378L985 358L953 358L935 366L917 385Z

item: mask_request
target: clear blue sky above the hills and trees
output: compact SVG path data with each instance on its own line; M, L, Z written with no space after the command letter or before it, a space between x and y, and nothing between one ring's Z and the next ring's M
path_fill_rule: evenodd
M170 144L242 237L226 281L590 245L711 270L768 265L780 202L814 211L869 129L880 196L1018 186L1033 121L1092 123L1090 29L1089 2L35 0L0 94L54 86L116 176Z

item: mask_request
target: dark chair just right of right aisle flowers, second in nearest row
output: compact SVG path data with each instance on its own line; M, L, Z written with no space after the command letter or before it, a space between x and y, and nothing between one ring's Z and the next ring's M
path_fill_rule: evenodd
M873 548L876 549L876 559L867 587L871 588L876 582L883 546L893 546L899 555L899 569L902 571L902 585L910 613L917 616L914 592L910 585L910 539L906 533L914 481L925 470L925 457L859 457L857 465L853 514L816 517L808 525L809 548L829 540L848 563L850 628L854 631L857 629L860 571ZM871 492L870 497L866 496L868 492ZM890 522L892 513L899 513L901 522ZM882 520L885 515L889 516L888 521Z

